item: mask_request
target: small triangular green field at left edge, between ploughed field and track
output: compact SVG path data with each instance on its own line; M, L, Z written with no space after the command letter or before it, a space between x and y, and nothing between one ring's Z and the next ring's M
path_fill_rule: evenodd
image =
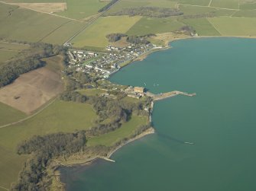
M26 116L25 113L0 102L0 126L24 119Z

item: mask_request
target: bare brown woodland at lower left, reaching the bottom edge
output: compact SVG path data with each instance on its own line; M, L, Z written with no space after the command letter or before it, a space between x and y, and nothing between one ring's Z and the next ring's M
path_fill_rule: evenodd
M76 133L55 133L44 136L34 136L18 145L18 154L34 154L28 160L21 173L18 183L11 186L12 190L48 190L49 182L44 181L47 176L47 165L51 158L69 156L83 151L86 146L84 131Z

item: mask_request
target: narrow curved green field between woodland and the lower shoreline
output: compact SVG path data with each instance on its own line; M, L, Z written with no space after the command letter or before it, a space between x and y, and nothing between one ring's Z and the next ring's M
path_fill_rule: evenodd
M87 145L106 145L112 146L116 142L121 141L123 138L128 138L136 129L142 125L147 124L147 117L145 116L132 116L131 119L122 125L119 129L113 132L106 133L104 135L99 135L97 137L89 138Z

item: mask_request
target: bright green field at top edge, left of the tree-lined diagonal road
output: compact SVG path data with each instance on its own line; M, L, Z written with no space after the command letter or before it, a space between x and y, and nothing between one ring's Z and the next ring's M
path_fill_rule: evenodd
M97 14L99 9L109 3L109 1L99 0L68 0L67 10L57 14L67 18L83 19L93 14Z

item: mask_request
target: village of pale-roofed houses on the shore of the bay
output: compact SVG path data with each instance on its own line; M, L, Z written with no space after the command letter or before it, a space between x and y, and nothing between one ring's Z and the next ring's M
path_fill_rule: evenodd
M138 56L155 49L156 46L149 44L130 44L123 48L107 46L108 53L93 53L83 50L70 50L70 68L76 71L86 72L99 78L109 78L109 75L117 72L124 62L136 59Z

